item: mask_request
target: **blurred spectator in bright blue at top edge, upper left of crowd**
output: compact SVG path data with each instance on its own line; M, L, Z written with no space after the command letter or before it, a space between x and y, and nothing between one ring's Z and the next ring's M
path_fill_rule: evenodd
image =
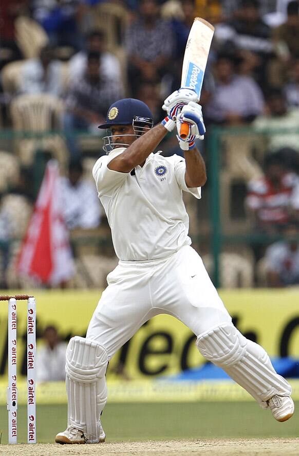
M33 0L32 16L48 34L52 46L82 48L80 23L84 2L81 0Z

